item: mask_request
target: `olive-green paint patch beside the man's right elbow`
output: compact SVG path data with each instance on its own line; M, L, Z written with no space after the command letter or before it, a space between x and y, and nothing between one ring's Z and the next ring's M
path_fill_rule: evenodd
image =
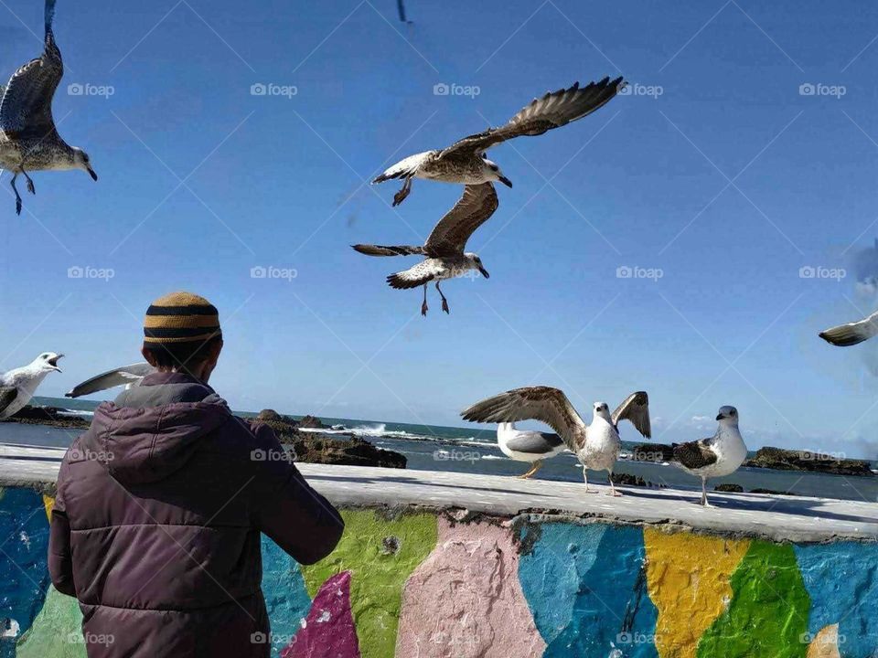
M436 517L400 515L387 519L369 510L343 511L345 534L332 555L302 567L313 599L320 586L351 572L350 606L363 658L392 658L400 621L402 587L436 546Z

